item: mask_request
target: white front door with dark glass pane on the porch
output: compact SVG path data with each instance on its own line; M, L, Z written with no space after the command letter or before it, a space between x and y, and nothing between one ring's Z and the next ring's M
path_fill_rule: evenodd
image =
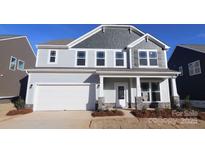
M116 107L125 108L127 98L127 84L126 83L115 83L116 89Z

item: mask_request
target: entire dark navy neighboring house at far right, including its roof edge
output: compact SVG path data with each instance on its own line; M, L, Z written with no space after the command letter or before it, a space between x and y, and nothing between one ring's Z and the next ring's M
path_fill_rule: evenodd
M177 90L183 100L205 100L205 45L178 45L170 60L169 68L180 71Z

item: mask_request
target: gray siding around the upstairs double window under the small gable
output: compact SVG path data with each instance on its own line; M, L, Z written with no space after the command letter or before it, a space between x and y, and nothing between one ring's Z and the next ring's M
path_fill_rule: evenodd
M166 68L166 60L164 51L162 48L152 41L142 41L141 43L137 44L135 47L132 48L132 65L133 68L139 67L138 63L138 49L156 49L158 52L158 65L161 68Z

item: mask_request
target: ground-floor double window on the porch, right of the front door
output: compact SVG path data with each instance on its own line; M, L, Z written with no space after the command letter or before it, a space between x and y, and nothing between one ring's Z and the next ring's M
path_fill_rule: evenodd
M157 102L160 101L160 86L159 82L142 82L142 101Z

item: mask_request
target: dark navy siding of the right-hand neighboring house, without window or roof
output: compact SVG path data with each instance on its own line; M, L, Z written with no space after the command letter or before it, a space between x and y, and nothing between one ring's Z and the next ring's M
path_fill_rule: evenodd
M188 63L200 60L202 74L189 76ZM205 100L205 54L177 46L168 62L170 69L183 67L183 76L177 77L177 90L184 99L190 96L193 100Z

